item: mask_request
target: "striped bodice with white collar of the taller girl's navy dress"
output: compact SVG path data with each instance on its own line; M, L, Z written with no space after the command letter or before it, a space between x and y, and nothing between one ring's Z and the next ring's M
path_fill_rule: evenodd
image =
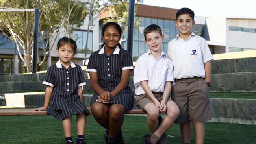
M133 70L132 57L127 50L118 46L107 55L104 47L91 54L86 72L96 72L101 88L115 87L121 81L122 70Z

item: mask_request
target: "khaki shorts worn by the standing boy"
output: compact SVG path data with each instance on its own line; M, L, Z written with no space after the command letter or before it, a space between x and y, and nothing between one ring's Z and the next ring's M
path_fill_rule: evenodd
M204 78L176 79L171 96L180 109L175 123L204 122L211 119L209 87Z

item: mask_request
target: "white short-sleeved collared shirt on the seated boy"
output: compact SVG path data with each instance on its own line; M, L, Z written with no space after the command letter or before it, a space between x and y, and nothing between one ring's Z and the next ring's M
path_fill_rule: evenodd
M156 60L150 50L141 55L134 68L135 94L145 94L141 87L141 81L148 81L152 92L163 92L165 82L173 81L173 63L165 52Z

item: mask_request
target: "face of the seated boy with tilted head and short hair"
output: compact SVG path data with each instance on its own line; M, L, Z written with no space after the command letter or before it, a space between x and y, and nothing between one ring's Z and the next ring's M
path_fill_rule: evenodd
M152 52L160 52L162 50L162 42L164 41L164 35L160 35L160 33L153 31L146 35L145 43L149 46L151 53Z

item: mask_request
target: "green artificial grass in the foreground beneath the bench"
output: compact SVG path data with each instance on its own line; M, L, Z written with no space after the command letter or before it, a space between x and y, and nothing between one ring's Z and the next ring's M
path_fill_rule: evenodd
M72 118L72 137L76 139L76 116ZM61 121L52 116L0 116L1 144L64 144ZM256 143L256 126L206 122L206 144ZM85 140L87 144L104 144L104 128L87 116ZM142 135L149 133L147 118L125 116L122 132L126 144L140 144ZM180 126L174 124L167 131L169 142L181 144ZM195 143L192 130L191 142Z

